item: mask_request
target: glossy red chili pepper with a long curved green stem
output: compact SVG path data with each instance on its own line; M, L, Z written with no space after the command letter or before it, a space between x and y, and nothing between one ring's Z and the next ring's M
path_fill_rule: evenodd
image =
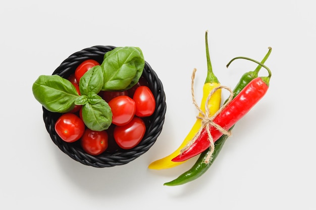
M252 60L245 57L248 60ZM234 58L236 59L236 58ZM258 61L252 60L254 62ZM263 65L265 68L270 69ZM231 128L238 120L240 120L268 91L269 82L270 82L271 74L269 77L258 77L252 80L223 110L219 113L213 120L214 123L218 124L225 130ZM209 126L210 134L213 137L213 141L216 142L223 133L219 131L214 126ZM193 144L185 150L182 154L178 155L172 161L174 162L182 162L186 161L206 149L210 146L209 136L205 127L202 132L198 136L198 138L193 142Z

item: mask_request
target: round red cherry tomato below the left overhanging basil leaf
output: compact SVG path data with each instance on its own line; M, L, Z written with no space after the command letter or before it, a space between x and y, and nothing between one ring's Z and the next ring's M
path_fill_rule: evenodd
M55 123L57 134L65 142L75 142L83 134L85 129L84 122L73 113L63 114Z

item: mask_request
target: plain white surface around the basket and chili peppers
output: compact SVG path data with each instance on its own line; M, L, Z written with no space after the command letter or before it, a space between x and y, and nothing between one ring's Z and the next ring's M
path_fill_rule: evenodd
M13 0L0 3L0 27L1 209L316 209L313 1ZM231 88L256 64L227 62L260 61L271 46L270 89L202 177L164 186L195 162L147 168L177 149L195 121L190 80L196 67L200 101L206 30L214 73ZM92 168L62 153L32 95L39 75L94 45L140 47L164 84L163 131L124 166Z

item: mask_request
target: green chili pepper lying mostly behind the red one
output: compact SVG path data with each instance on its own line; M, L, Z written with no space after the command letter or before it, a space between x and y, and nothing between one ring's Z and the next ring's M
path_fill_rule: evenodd
M269 47L268 48L269 51L266 54L266 56L264 57L264 59L262 59L261 63L265 63L265 61L268 59L272 48ZM227 66L229 66L230 62L227 64ZM258 77L258 72L261 68L261 65L258 65L254 71L251 72L247 72L245 73L241 79L239 80L239 83L236 85L235 89L233 90L234 96L233 98L235 98L238 93L244 88L246 87L246 85L248 83L250 83L253 79ZM225 101L225 103L227 102L227 100ZM231 131L233 129L234 125L229 129L229 131ZM220 151L222 150L226 139L228 138L228 135L222 135L215 143L214 143L214 152L212 155L212 159L206 163L206 158L208 158L208 154L210 152L209 150L205 150L204 152L202 152L199 156L199 158L197 159L197 161L195 162L195 164L186 172L184 172L183 174L181 174L178 178L170 181L170 182L166 182L164 183L164 185L167 186L177 186L177 185L182 185L185 183L188 183L190 181L193 181L195 179L197 179L198 177L202 176L207 169L213 164L213 162L215 161L215 159L217 158L217 156L219 155Z

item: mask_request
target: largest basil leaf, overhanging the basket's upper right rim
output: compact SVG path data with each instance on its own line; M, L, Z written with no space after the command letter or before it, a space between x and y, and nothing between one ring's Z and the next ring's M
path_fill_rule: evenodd
M101 63L104 91L126 90L142 75L145 60L138 47L117 47L104 54Z

